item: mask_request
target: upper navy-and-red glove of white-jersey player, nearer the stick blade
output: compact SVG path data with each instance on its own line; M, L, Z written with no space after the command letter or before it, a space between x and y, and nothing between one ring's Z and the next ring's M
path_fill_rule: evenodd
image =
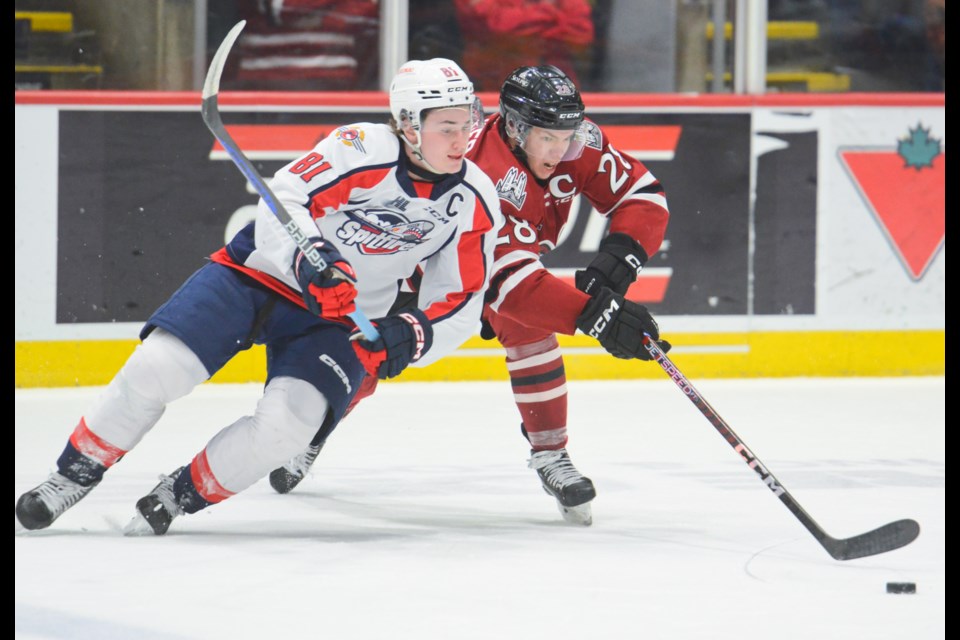
M297 249L293 253L293 275L300 284L303 301L313 314L341 320L357 310L353 302L357 297L357 274L333 245L318 237L310 238L310 242L327 263L327 268L317 271L303 251Z

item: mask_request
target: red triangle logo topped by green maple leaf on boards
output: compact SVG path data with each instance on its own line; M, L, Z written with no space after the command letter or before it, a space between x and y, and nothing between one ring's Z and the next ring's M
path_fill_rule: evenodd
M840 160L900 262L923 278L946 234L946 154L917 124L896 149L839 150Z

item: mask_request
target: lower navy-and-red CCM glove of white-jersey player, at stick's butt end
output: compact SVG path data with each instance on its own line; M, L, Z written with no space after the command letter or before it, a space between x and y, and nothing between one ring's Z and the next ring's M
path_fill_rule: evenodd
M380 332L379 338L370 342L355 331L350 340L366 372L380 380L400 375L433 344L433 327L420 309L406 309L372 323Z

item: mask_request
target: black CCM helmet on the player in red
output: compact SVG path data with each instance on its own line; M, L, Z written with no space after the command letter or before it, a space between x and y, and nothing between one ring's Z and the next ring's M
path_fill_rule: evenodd
M583 100L573 81L552 65L520 67L500 88L500 112L518 123L543 129L577 129Z

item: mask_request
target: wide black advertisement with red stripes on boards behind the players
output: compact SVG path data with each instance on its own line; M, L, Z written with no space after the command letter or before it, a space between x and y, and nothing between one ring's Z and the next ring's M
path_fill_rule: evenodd
M355 119L348 113L235 113L227 126L261 174L271 176ZM621 151L661 180L673 213L664 249L630 297L662 314L748 313L749 115L596 120ZM256 194L195 114L64 110L59 130L58 190L65 197L57 228L72 241L58 245L58 323L146 320L205 256L252 219ZM799 175L815 175L815 154L789 161L805 163ZM696 188L689 186L691 175ZM610 179L617 179L615 170ZM578 209L545 260L570 278L592 259L606 232L605 220L585 199ZM801 218L788 208L775 211ZM802 224L812 228L815 211L801 213ZM786 273L806 278L796 289L812 290L813 274L802 265L812 264L813 254L811 243L780 256L796 263ZM775 304L774 298L762 302ZM795 304L798 312L813 312L811 299Z

